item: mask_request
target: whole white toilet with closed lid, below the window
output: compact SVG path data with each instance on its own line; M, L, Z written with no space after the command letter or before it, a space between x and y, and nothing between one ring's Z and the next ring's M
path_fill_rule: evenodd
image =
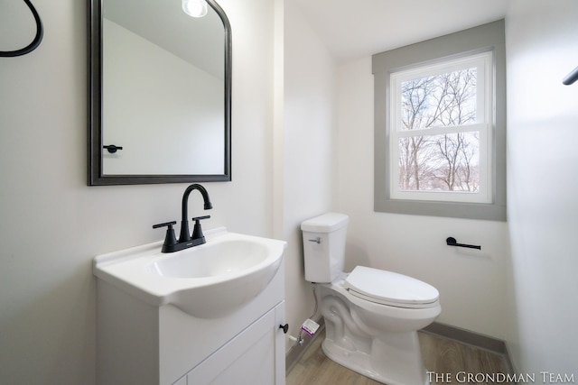
M348 215L327 213L301 225L305 280L325 321L323 353L388 385L429 384L417 330L440 315L439 292L421 280L357 266L343 272Z

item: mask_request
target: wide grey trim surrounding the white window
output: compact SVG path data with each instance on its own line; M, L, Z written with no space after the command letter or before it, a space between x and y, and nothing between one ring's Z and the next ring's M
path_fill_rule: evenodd
M505 23L499 20L478 27L451 33L429 41L418 42L396 50L373 55L374 75L374 210L382 213L409 215L433 215L458 218L506 221L506 42ZM484 153L489 156L488 188L485 199L478 202L444 201L438 195L426 193L423 198L396 197L391 192L394 181L391 171L391 142L396 133L391 127L391 75L396 72L434 66L447 60L492 52L489 68L493 73L487 77L491 96L489 104L488 145ZM476 123L478 124L478 123ZM427 130L432 130L429 128ZM426 130L424 130L426 131ZM432 133L431 131L429 133ZM398 145L398 142L396 142ZM481 153L481 149L480 149ZM398 163L398 158L395 158ZM453 194L453 192L452 192ZM435 195L435 200L431 197ZM467 199L466 199L467 200Z

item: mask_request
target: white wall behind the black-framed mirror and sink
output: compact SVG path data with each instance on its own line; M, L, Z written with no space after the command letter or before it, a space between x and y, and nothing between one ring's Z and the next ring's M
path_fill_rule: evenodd
M234 39L233 181L205 184L215 207L205 226L270 236L274 5L219 4ZM151 225L179 219L186 185L86 186L87 3L34 5L42 44L0 58L0 383L89 385L92 258L163 239ZM30 15L24 8L14 18L10 36L25 44ZM190 202L191 215L201 211L200 195Z

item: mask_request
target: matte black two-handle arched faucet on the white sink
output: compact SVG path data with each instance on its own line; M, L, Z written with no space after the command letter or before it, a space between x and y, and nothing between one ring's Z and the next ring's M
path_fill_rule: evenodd
M167 226L166 236L164 237L162 252L178 252L180 250L188 249L192 246L197 246L199 244L205 243L205 236L202 234L202 229L200 228L200 220L210 218L210 215L197 216L192 218L195 221L195 226L192 231L192 235L189 234L189 195L191 195L192 190L199 190L204 201L203 208L205 210L210 210L213 206L210 204L209 193L205 188L198 184L193 184L184 190L182 194L182 220L181 220L181 234L179 240L177 241L174 236L174 230L172 225L176 225L176 221L167 222L164 224L153 225L153 228L159 228Z

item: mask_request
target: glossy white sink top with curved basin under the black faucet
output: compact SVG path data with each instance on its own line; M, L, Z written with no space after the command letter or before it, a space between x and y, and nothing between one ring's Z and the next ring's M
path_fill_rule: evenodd
M227 316L255 298L273 279L286 243L205 232L207 243L162 253L162 242L99 255L94 274L150 305L171 304L191 316Z

